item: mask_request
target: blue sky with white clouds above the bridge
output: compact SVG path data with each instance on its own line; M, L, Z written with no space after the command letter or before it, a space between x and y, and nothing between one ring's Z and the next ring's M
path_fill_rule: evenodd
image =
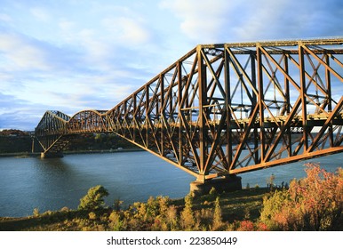
M342 35L341 0L0 0L0 130L113 108L196 44Z

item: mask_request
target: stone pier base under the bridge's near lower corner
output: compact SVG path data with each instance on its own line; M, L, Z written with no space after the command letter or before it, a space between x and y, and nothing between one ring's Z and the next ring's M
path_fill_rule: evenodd
M242 177L228 176L225 178L213 179L205 182L192 181L190 183L190 193L195 196L202 196L210 193L214 188L217 192L232 192L242 189Z

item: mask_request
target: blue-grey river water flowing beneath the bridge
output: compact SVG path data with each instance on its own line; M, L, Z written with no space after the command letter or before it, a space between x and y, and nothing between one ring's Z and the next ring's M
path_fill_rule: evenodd
M320 163L330 172L342 166L343 153L319 157L240 174L242 186L267 185L273 173L275 183L305 176L304 164ZM96 185L108 189L107 205L124 200L124 205L148 197L184 197L195 178L145 151L67 155L63 158L0 157L0 216L31 215L64 206L76 208L80 198Z

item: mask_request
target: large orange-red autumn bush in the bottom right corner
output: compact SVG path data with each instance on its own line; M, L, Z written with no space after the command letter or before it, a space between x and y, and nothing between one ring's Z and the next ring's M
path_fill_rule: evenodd
M307 177L264 197L260 220L274 230L342 230L343 170L307 164Z

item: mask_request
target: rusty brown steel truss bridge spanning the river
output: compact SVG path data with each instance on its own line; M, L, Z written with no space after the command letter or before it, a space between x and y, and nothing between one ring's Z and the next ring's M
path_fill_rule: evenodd
M197 181L343 151L343 38L202 44L110 110L47 111L44 153L116 133Z

